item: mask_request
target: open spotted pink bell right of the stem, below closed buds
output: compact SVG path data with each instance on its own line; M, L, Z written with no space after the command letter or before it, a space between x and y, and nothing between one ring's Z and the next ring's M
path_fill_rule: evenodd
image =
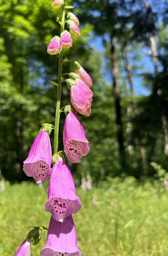
M89 153L89 142L74 110L70 110L65 119L63 143L64 151L72 163L79 163L80 158Z

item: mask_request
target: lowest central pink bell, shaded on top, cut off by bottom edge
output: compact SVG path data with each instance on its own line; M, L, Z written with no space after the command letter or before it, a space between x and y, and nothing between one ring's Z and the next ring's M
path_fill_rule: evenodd
M47 242L40 251L41 256L81 256L78 249L76 231L72 215L64 222L50 219Z

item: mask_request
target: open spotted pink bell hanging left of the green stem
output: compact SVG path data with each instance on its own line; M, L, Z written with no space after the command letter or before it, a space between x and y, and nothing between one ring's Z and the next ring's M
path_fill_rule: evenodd
M32 176L36 183L45 182L51 172L51 161L50 138L43 129L35 138L28 158L23 162L23 171L27 176Z

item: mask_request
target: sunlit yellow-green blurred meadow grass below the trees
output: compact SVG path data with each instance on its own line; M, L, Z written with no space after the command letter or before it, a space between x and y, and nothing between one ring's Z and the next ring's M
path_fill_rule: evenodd
M115 178L105 188L82 191L80 211L73 215L83 256L168 255L168 191L159 182L138 185L133 177ZM0 255L14 255L31 228L48 227L47 184L5 182L0 193ZM92 199L96 196L97 206ZM47 231L31 256L39 256Z

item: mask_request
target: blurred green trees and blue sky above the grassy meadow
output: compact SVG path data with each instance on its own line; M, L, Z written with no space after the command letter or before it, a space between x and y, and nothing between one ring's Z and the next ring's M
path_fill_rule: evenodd
M66 4L75 5L81 30L67 57L93 80L91 114L80 115L90 152L80 164L67 161L76 184L88 175L98 187L116 176L144 180L157 178L159 170L166 175L167 1ZM54 124L56 87L47 79L57 82L58 61L46 48L59 34L57 15L49 0L0 1L0 170L1 178L12 183L32 180L23 172L23 161L41 124ZM62 92L63 107L70 104L65 84ZM64 121L61 114L60 138Z

